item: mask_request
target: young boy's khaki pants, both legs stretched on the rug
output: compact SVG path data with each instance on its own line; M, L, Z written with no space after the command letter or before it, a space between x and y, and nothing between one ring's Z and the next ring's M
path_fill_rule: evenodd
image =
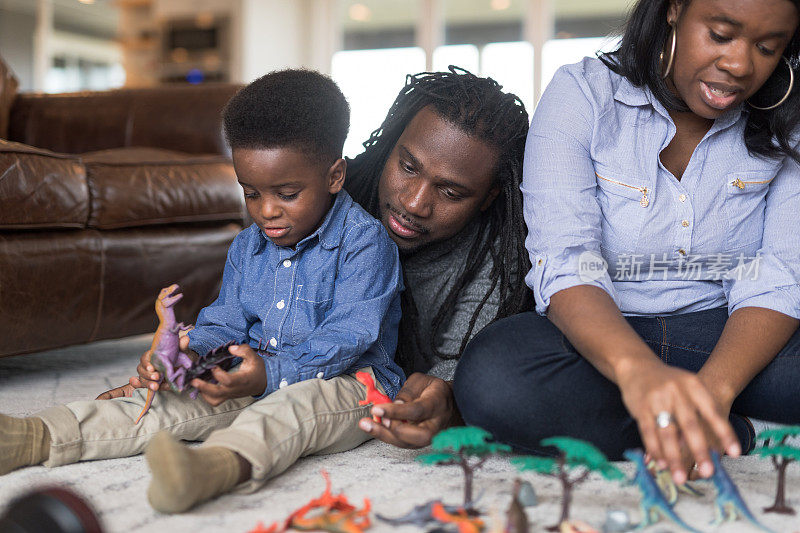
M372 374L371 368L362 371ZM370 416L369 405L358 405L365 390L354 376L342 375L301 381L258 401L238 398L217 407L201 397L192 400L186 394L159 391L147 414L134 424L147 395L146 389L136 389L131 398L73 402L33 416L50 431L45 466L136 455L152 436L166 430L247 459L252 479L241 488L248 491L300 457L350 450L369 440L358 428L358 420Z

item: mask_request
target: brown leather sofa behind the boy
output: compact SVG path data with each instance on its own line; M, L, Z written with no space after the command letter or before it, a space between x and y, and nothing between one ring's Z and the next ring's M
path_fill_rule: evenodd
M0 85L0 357L152 332L171 283L179 320L213 301L244 216L220 128L238 88Z

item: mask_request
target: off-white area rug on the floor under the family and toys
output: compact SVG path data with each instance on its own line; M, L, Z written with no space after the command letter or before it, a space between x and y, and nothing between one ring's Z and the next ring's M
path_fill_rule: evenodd
M73 400L91 399L100 392L127 382L135 372L141 353L150 343L148 336L105 341L47 353L0 359L0 412L24 416ZM145 492L150 473L143 457L79 463L59 468L34 467L0 477L0 513L15 497L43 485L59 484L82 494L95 508L111 533L136 531L241 532L258 522L270 524L319 496L325 488L320 469L330 473L333 492L344 492L354 505L370 498L372 509L387 516L404 514L414 505L434 498L458 504L462 482L458 467L427 467L414 461L424 451L400 450L380 442L334 455L301 460L264 489L248 495L226 495L182 515L155 512ZM775 494L775 473L769 461L756 457L726 460L725 465L744 495L750 509L762 522L779 533L800 532L800 516L764 514ZM629 464L620 463L628 475ZM788 503L800 511L800 466L790 465L787 476ZM518 474L507 460L489 461L475 478L479 506L490 510L488 519L505 514L511 484ZM558 518L560 486L549 478L526 472L520 477L533 483L539 505L528 509L531 531L544 531ZM709 525L714 518L714 491L699 485L705 495L699 499L683 496L676 512L702 531L745 532L755 527L736 522L719 528ZM640 518L638 491L634 487L603 481L592 476L574 492L572 517L602 526L608 509L624 509L633 521ZM370 531L421 531L415 527L392 528L374 517ZM646 530L653 533L680 531L661 522Z

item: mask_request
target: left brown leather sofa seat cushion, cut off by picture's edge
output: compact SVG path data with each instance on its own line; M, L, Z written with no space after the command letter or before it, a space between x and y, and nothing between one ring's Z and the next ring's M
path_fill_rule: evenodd
M0 140L0 228L84 228L88 218L78 159Z

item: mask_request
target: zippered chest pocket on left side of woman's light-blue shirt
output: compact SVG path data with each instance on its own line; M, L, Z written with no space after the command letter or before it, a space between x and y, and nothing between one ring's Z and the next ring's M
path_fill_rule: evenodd
M602 212L602 246L633 253L650 209L651 191L644 180L598 169L597 203Z

